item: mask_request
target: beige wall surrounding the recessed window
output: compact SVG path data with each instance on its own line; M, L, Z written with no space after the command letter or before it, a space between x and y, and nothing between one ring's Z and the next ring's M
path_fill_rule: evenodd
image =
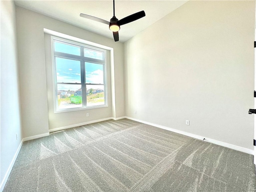
M16 14L24 138L45 134L49 129L125 115L123 43L115 43L110 38L24 8L17 7ZM52 98L53 94L52 77L46 75L48 69L46 66L49 67L50 65L50 52L46 47L49 42L45 41L44 28L114 49L114 66L111 70L115 75L111 77L111 82L109 82L110 92L116 93L114 95L115 100L111 100L113 98L111 94L109 97L109 103L115 104L114 109L111 104L108 108L54 114L53 102L47 100L47 96ZM86 113L90 113L90 116L86 117Z

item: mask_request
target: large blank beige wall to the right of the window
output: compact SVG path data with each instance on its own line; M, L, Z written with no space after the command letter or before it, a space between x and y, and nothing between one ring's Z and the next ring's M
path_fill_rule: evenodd
M253 150L254 22L255 1L189 1L125 42L126 116Z

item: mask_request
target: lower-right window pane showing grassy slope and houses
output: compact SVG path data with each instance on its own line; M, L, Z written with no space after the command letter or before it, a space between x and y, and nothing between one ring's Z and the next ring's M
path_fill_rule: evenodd
M105 104L103 85L86 85L87 106Z

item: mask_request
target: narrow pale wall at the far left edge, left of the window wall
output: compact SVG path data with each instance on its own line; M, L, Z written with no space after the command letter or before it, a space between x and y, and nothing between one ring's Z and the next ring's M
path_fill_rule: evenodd
M16 15L13 1L0 1L0 191L10 173L9 166L22 141L20 89L16 40ZM17 134L17 138L16 138Z

